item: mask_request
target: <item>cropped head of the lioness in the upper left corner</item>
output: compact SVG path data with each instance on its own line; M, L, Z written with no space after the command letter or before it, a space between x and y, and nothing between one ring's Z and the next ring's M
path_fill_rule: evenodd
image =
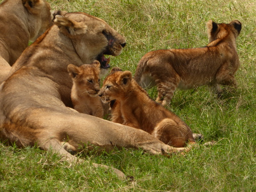
M22 3L29 14L28 25L33 24L33 26L30 26L29 40L35 41L46 29L53 25L53 13L50 12L51 8L46 0L22 0Z

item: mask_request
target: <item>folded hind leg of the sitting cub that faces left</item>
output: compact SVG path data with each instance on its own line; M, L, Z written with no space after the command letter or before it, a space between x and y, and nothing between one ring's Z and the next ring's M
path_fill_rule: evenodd
M173 147L185 147L187 142L195 143L191 129L185 123L175 122L172 119L163 119L154 128L152 135Z

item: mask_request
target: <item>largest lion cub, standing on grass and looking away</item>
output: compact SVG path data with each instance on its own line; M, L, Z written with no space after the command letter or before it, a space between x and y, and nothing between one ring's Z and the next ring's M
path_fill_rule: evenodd
M148 52L141 58L134 79L143 87L157 85L157 102L167 105L177 88L190 89L219 84L236 87L239 68L236 38L241 23L206 23L209 44L202 48L166 49Z

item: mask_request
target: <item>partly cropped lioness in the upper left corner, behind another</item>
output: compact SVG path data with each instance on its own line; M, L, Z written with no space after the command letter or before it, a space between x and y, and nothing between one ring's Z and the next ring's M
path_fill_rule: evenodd
M29 41L52 26L52 19L45 0L5 0L0 4L0 83Z

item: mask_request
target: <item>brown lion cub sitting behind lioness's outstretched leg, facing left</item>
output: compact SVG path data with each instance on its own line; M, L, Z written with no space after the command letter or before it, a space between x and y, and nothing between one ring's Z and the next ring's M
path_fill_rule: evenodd
M146 91L132 79L130 71L122 72L118 67L113 68L104 80L99 96L102 101L111 100L113 122L142 129L174 147L184 147L186 142L195 143L189 126L150 99Z

